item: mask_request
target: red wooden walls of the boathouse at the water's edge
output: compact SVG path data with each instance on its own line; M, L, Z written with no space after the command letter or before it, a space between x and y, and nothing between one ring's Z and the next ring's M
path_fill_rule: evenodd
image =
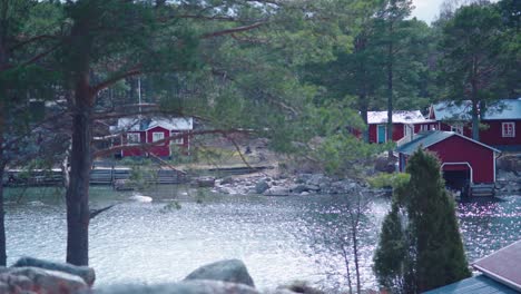
M473 170L472 182L474 184L494 183L495 158L493 150L459 136L452 136L427 147L427 149L435 151L442 163L468 161Z

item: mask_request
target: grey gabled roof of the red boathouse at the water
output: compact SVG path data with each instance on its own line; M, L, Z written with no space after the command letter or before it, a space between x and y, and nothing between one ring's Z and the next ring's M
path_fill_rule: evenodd
M468 138L468 137L464 137L460 134L456 134L454 131L444 131L444 130L430 130L430 131L425 131L425 133L420 133L419 135L415 136L415 138L407 143L407 144L404 144L402 146L400 146L399 148L396 148L396 151L397 153L401 153L401 154L406 154L406 155L411 155L413 154L417 148L420 148L420 146L422 146L423 148L427 148L429 146L432 146L436 143L440 143L449 137L452 137L452 136L459 136L461 138L464 138L466 140L470 140L472 143L475 143L475 144L479 144L485 148L489 148L495 153L500 153L500 150L493 148L493 147L490 147L489 145L484 145L482 143L479 143L476 140L473 140L471 138Z

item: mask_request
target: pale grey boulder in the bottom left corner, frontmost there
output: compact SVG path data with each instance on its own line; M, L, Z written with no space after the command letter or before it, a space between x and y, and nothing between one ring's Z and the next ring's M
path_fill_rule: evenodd
M9 280L13 281L16 277L12 276L18 276L18 282L22 281L22 283L30 286L26 291L32 291L38 294L72 294L89 288L79 276L38 267L13 267L6 276L8 276L8 282L3 282L4 284L9 285ZM17 292L12 291L11 293L16 294Z

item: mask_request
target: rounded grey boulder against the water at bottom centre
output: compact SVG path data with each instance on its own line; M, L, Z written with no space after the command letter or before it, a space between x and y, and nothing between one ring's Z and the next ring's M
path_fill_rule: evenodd
M255 287L246 265L239 259L227 259L204 265L185 277L185 281L187 280L223 281Z

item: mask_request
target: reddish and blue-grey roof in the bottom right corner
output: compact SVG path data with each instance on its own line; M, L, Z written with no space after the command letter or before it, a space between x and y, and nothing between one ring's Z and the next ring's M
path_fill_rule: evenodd
M439 287L426 294L521 293L521 239L479 259L472 266L482 274Z

